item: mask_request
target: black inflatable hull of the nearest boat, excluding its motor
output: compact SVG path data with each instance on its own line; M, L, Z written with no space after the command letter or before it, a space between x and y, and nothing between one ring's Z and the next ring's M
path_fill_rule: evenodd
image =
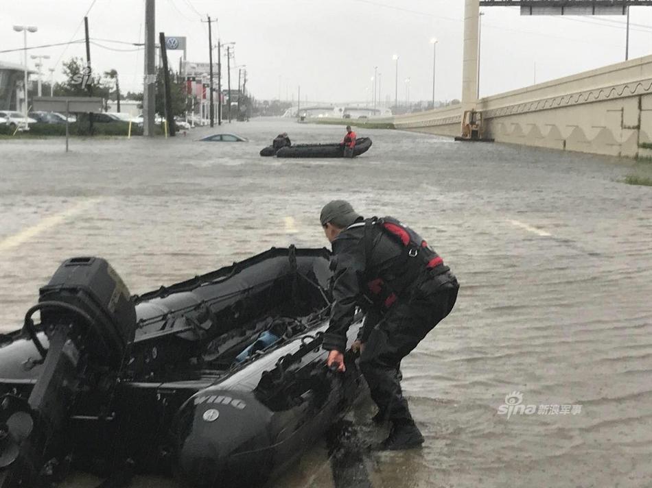
M359 395L362 376L351 353L345 374L325 368L330 276L326 249L272 248L134 297L127 361L106 378L98 369L97 385L71 391L67 418L49 426L66 441L37 447L47 459L73 459L95 474L115 474L130 460L138 472L202 488L260 485L281 474ZM349 345L361 319L349 330ZM283 339L235 361L272 329ZM44 330L40 343L52 347ZM4 337L3 398L31 398L38 390L47 363L25 367L37 356L20 331ZM66 384L78 381L83 375ZM32 443L42 439L35 425ZM0 467L1 488L25 485L24 464L16 463ZM29 479L41 468L35 465Z

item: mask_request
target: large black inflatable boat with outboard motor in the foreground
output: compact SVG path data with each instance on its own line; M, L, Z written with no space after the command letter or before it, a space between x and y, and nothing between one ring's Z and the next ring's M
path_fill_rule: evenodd
M0 336L0 487L70 467L192 487L276 476L359 394L353 358L325 368L329 277L326 249L272 248L132 297L105 260L65 261Z

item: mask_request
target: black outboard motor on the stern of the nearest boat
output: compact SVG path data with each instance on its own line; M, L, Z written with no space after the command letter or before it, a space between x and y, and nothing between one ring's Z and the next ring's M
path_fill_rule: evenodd
M29 398L0 396L1 488L39 487L56 476L71 450L68 421L82 395L98 418L110 415L135 319L127 287L102 258L69 259L40 289L23 325L40 356L23 367L39 367L40 376Z

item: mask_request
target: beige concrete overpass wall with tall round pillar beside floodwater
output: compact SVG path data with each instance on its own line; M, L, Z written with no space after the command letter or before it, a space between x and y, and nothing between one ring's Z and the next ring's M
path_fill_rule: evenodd
M461 106L393 117L395 127L458 136L465 110L482 112L497 142L652 157L652 56L477 99L480 0L465 0Z

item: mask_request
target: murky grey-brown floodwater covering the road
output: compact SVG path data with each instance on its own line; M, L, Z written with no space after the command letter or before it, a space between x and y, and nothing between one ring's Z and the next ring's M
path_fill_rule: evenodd
M402 365L426 444L364 454L368 480L351 485L651 486L652 188L621 182L633 162L382 130L358 131L373 147L354 160L277 160L258 151L283 130L296 143L344 131L223 130L251 142L193 141L209 129L73 140L69 154L60 139L1 141L2 330L70 256L107 258L141 293L272 246L327 245L319 211L345 198L417 229L461 282ZM382 435L372 414L353 415L362 437ZM276 485L342 486L331 464L310 446Z

